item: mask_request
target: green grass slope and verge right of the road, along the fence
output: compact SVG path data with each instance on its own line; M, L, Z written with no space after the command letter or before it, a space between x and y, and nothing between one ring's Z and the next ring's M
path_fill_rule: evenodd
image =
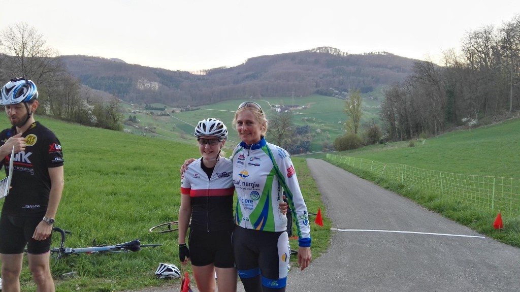
M520 120L515 119L492 126L449 132L427 139L424 144L417 141L415 147L409 147L410 142L404 141L376 144L335 154L453 174L518 179L520 178L518 168L520 154L516 143L520 140L519 127ZM374 176L345 164L336 165L407 196L422 206L486 236L520 247L520 214L503 216L504 229L497 231L492 227L497 216L496 211L478 208L460 200L447 200L446 196L433 194L411 185L386 181L380 176Z

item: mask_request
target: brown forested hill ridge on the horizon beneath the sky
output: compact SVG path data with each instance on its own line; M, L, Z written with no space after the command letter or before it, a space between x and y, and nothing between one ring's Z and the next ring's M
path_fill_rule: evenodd
M402 81L417 61L386 52L350 55L330 47L254 57L237 67L198 74L127 64L120 59L62 56L62 60L93 89L132 103L172 106L261 96L332 96L351 88L370 92Z

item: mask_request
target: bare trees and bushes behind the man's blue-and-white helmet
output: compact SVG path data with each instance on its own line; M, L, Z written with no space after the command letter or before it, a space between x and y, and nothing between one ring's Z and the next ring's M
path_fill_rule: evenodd
M103 101L83 88L72 76L58 52L46 45L43 35L27 23L0 31L0 82L11 78L31 79L38 88L37 114L87 126L121 130L120 100Z

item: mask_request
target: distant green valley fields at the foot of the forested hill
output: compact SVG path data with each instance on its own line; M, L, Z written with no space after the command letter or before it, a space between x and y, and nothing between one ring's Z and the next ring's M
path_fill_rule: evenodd
M164 138L177 142L190 142L193 141L192 131L194 125L197 122L208 117L216 117L222 120L228 128L231 128L231 121L235 114L237 105L245 100L229 100L214 103L211 105L202 105L199 110L192 110L187 112L180 112L178 109L172 116L158 116L149 115L144 113L131 113L134 110L131 107L125 107L128 113L124 113L124 118L128 115L136 116L140 122L139 127L154 128L155 133L147 132L147 136L154 138ZM345 108L345 100L313 95L303 98L263 98L261 100L255 100L261 104L267 117L276 114L276 111L271 108L271 105L290 105L298 104L300 106L305 105L305 108L294 110L293 123L296 126L309 125L315 134L315 141L312 141L313 151L321 151L321 142L326 140L326 133L330 135L329 141L332 143L336 137L344 134L343 122L345 122L348 116L345 114L343 109ZM377 105L380 102L365 97L363 100L366 103L367 108L363 109L362 123L375 122L379 123L379 108ZM157 107L163 107L161 104L155 105ZM138 109L140 111L150 112L149 110ZM161 111L152 111L155 114ZM142 131L136 128L131 128L135 134L142 135ZM321 134L317 134L316 130L320 129ZM229 141L236 144L238 143L238 136L235 131L231 131L229 135Z

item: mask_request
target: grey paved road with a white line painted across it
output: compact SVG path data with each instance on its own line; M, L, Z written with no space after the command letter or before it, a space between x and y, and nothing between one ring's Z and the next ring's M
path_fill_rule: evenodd
M345 231L333 232L328 253L315 254L310 267L289 273L287 291L520 291L520 249L327 162L307 163L327 206L323 215Z

